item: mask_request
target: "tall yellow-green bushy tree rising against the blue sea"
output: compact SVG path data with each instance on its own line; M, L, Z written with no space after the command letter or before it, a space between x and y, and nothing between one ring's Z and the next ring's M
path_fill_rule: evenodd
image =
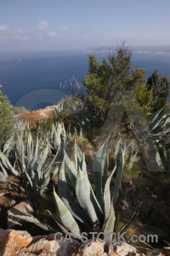
M113 99L117 91L124 93L133 90L133 95L136 96L140 110L145 116L152 109L150 106L152 92L145 87L144 69L132 69L131 56L132 51L125 47L124 43L116 49L115 54L109 55L109 62L103 58L101 65L95 55L89 55L88 75L83 81L88 89L84 101L87 102L90 111L102 121L114 104ZM130 106L132 100L127 99L129 102L125 102L129 108L133 106Z

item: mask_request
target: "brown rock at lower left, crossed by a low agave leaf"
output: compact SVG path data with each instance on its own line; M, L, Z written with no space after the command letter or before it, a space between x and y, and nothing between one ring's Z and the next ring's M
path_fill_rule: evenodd
M8 210L8 229L20 228L25 221L21 218L16 218L14 215L28 215L32 216L34 213L31 201L21 201L19 204L14 204Z

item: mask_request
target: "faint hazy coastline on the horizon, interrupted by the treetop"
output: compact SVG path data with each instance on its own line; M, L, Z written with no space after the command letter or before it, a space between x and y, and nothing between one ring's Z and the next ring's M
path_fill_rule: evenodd
M82 52L114 52L116 51L116 46L98 46L98 47L88 47L83 49L77 49ZM170 55L170 45L161 46L133 46L133 52L145 53L145 54L163 54Z

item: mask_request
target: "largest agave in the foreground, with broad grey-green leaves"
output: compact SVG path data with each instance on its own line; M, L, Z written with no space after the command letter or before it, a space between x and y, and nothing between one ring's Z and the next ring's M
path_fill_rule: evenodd
M103 231L105 234L113 232L116 220L114 209L121 188L126 150L126 143L119 140L116 145L116 164L109 173L108 140L99 148L93 162L94 189L88 179L85 156L77 143L75 162L72 162L65 152L59 171L59 195L54 190L54 198L60 224L74 236L81 238L82 229L88 232ZM114 174L115 186L111 190L111 178ZM111 236L108 236L108 242L110 241Z

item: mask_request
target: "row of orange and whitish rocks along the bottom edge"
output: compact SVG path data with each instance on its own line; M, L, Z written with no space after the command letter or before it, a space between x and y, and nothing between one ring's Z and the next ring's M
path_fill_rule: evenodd
M62 236L61 236L62 238ZM137 249L125 242L115 242L104 252L105 242L87 241L80 243L54 239L54 234L48 236L31 236L25 230L0 229L0 256L161 256L170 255L170 248L145 250L139 253Z

